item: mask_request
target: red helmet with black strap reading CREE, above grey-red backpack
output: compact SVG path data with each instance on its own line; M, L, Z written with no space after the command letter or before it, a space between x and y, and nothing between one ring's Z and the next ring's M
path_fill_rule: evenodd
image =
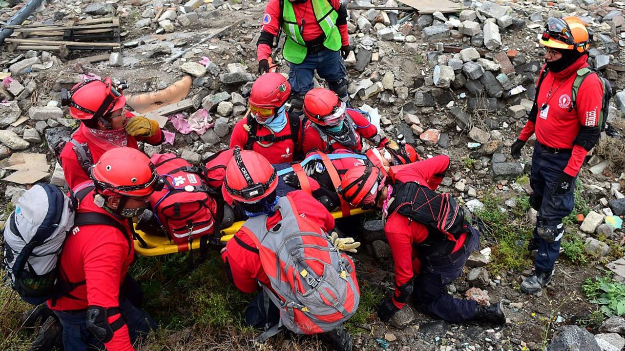
M276 190L277 182L276 170L264 156L234 149L224 182L232 199L253 204Z

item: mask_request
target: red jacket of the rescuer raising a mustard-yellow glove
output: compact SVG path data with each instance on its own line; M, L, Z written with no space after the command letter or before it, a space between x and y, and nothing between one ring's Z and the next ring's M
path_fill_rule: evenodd
M126 117L133 117L134 114L131 112L127 112ZM113 144L108 144L104 141L96 141L95 136L89 132L88 127L84 124L81 124L78 127L78 130L74 132L73 136L76 141L83 144L87 143L89 147L89 151L91 151L91 156L93 157L93 162L98 162L102 154L104 152L113 149L115 147ZM151 137L133 137L128 136L128 147L133 147L134 149L139 149L137 145L137 141L145 141L152 145L158 145L163 142L163 131L159 129L159 131ZM63 172L65 174L65 180L68 182L69 189L74 189L76 185L81 184L82 182L86 182L91 180L89 175L86 174L83 170L83 167L78 162L78 157L76 157L76 152L74 152L74 144L68 142L65 147L63 147L63 151L61 152L61 164L63 165Z

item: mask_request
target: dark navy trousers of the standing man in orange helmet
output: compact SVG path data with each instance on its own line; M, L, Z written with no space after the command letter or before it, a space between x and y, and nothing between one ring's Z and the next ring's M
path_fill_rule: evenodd
M557 179L566 168L570 158L570 152L552 154L544 151L540 144L534 145L532 172L529 177L529 185L534 190L534 194L529 198L529 203L538 211L536 227L557 226L573 210L575 204L573 192L577 177L566 194L554 194ZM534 240L538 247L534 262L536 269L551 272L560 252L560 240L546 242L537 234L537 229L534 229Z

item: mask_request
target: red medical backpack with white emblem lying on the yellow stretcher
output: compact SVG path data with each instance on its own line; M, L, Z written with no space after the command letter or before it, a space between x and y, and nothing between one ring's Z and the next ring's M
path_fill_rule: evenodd
M169 240L184 244L218 232L219 206L204 169L170 153L154 154L151 161L165 186L150 195L150 204Z

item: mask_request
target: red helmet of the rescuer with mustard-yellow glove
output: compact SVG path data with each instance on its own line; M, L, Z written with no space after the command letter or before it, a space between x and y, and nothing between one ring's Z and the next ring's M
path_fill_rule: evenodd
M69 91L68 104L69 116L76 119L92 119L123 108L126 97L111 78L86 79Z

